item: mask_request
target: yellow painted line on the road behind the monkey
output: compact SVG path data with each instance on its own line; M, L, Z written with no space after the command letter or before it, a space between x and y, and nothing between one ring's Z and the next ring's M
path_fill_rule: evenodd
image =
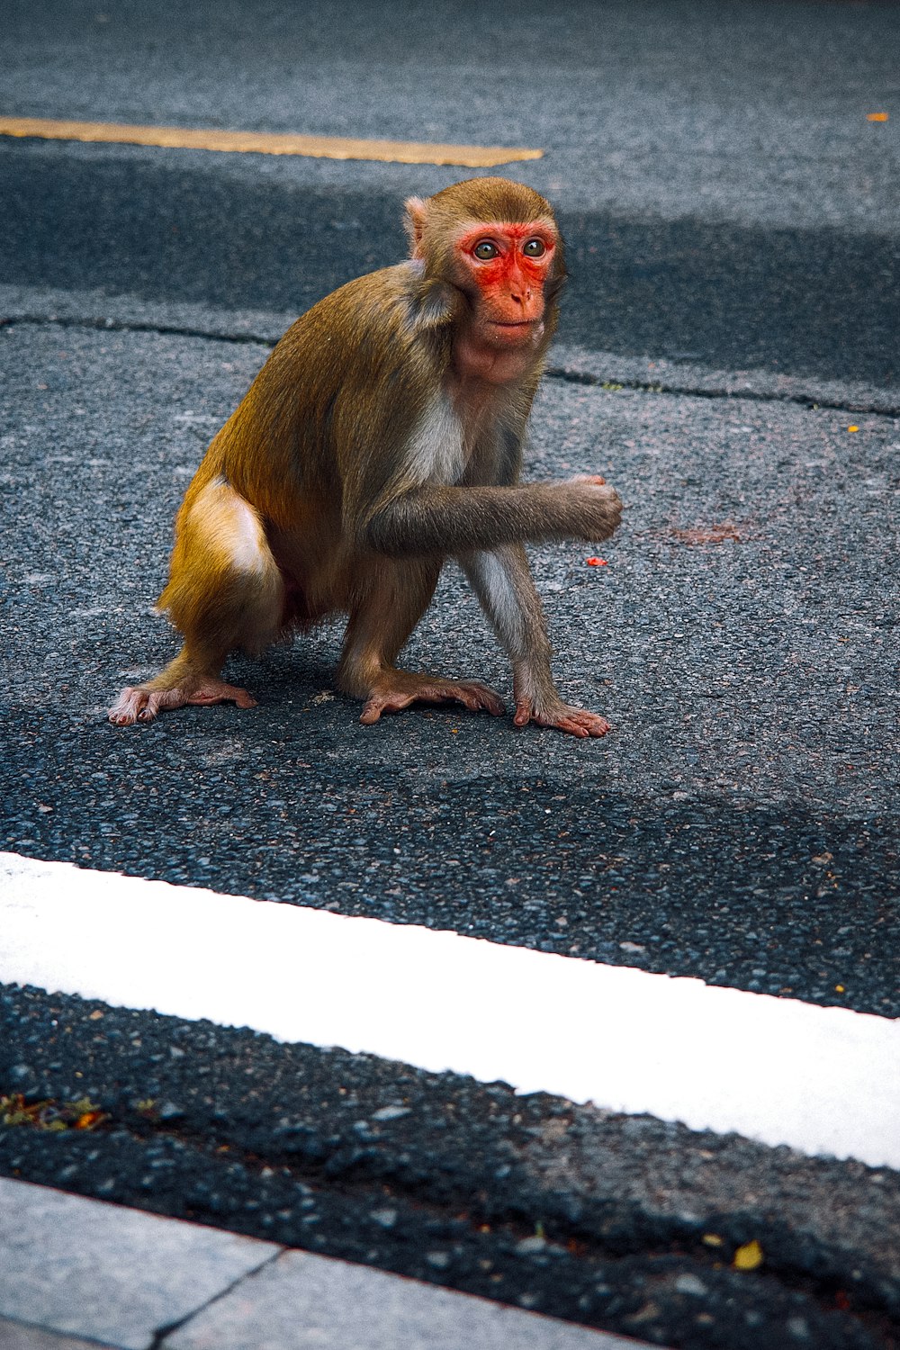
M437 146L418 140L355 140L351 136L296 136L269 131L216 131L189 127L130 127L116 122L54 122L50 117L0 117L3 136L45 140L100 140L173 150L224 150L232 154L308 155L313 159L379 159L401 165L463 165L488 169L514 159L540 159L542 150L505 146Z

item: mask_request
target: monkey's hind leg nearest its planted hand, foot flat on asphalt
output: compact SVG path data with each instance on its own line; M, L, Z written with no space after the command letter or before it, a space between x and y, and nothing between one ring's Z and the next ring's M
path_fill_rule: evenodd
M447 679L421 671L397 670L394 662L428 609L440 563L429 559L374 566L366 590L351 608L337 687L364 701L360 722L371 725L382 713L399 713L412 703L461 703L470 711L499 717L503 701L480 680Z

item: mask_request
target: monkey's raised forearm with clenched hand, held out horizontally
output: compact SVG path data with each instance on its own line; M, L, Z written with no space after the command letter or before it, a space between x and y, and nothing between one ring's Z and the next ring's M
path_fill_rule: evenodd
M425 485L393 497L367 522L367 541L393 558L583 539L618 526L622 502L596 479L521 487Z

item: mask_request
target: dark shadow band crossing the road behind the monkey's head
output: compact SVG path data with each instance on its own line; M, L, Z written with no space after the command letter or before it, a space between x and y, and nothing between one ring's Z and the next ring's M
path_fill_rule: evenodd
M0 151L0 281L302 310L405 251L402 194ZM900 244L822 228L561 213L561 336L625 355L900 379Z

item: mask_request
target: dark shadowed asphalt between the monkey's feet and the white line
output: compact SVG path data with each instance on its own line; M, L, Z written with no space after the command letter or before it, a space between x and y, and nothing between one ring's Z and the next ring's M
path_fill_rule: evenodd
M306 676L293 706L255 691L252 718L127 732L19 711L3 846L900 1015L891 821L362 767L322 752L345 701L318 703Z

